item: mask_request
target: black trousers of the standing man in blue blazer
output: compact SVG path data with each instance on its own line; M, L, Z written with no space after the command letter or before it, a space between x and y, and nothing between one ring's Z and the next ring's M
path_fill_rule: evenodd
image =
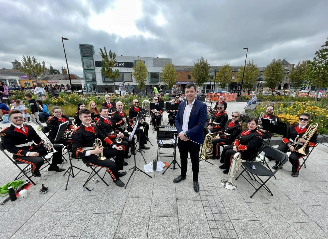
M184 177L187 174L188 153L189 153L191 164L192 164L192 170L193 170L193 179L194 181L198 182L200 145L195 144L190 140L183 141L179 139L178 149L179 149L180 160L181 160L181 176Z

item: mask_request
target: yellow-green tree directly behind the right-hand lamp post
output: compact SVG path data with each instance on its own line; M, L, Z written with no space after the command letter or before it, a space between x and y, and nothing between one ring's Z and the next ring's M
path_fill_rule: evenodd
M244 66L240 66L236 82L241 82L243 78L243 72L244 72ZM258 78L258 72L259 70L257 68L257 65L254 63L254 60L249 60L246 63L246 67L245 67L244 80L242 85L243 89L247 89L247 90L253 89L253 85Z

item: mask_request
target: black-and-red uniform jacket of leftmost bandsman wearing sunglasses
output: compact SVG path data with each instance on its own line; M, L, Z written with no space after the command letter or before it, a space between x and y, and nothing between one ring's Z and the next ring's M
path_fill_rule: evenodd
M31 150L31 146L35 144L44 147L42 139L35 132L31 125L23 125L26 133L22 129L17 129L14 125L3 129L0 133L1 142L5 148L14 156L26 156L27 152ZM34 142L32 145L16 147L16 145Z

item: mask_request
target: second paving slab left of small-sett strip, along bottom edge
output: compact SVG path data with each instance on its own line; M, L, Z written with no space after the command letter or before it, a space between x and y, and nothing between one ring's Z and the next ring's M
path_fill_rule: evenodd
M148 239L180 239L177 217L150 216Z

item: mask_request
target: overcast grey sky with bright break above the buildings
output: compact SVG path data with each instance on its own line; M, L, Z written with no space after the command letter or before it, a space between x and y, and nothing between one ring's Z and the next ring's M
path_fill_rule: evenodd
M117 55L212 66L312 59L328 37L327 0L0 0L0 68L23 55L83 75L78 44Z

